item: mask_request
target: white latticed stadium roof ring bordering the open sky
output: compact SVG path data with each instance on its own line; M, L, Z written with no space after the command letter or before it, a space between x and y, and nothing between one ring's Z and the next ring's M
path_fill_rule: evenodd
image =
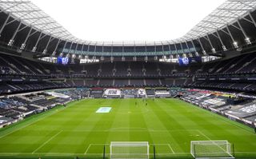
M43 33L50 34L56 38L61 38L62 40L98 46L151 46L190 41L191 39L206 36L206 34L222 29L226 25L235 22L238 18L244 17L255 8L255 0L227 0L206 16L206 18L202 19L201 22L194 26L182 38L170 41L90 42L74 37L73 34L70 34L68 30L28 0L0 0L0 9L2 11L9 13L11 16L21 20L26 25L33 26L34 29L42 30Z

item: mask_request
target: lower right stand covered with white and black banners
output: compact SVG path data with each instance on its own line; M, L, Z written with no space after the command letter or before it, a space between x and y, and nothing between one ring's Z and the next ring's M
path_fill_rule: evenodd
M194 105L210 109L212 112L222 114L236 121L241 121L246 125L255 125L254 116L256 115L256 109L254 98L239 97L234 95L234 93L215 92L203 89L182 90L181 98Z

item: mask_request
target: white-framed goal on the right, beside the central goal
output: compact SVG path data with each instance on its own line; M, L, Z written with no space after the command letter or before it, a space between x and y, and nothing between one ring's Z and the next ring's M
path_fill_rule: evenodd
M194 158L234 158L228 141L191 141L190 153Z

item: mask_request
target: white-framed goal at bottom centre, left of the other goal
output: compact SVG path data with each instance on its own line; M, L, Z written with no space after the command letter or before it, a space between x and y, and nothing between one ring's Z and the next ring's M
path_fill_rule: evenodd
M110 143L110 159L148 159L150 145L147 141L112 141Z

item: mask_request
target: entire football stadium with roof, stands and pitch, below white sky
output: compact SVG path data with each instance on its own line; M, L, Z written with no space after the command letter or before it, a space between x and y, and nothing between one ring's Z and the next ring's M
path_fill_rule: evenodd
M0 0L0 158L256 158L255 0L170 41L86 40Z

